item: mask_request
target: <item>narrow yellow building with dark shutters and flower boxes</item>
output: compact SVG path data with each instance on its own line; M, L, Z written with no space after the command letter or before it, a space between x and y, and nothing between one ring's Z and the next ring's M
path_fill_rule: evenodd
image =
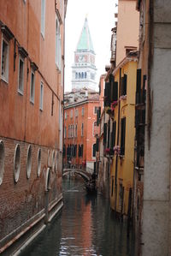
M133 208L133 163L135 139L135 92L137 52L132 52L115 68L114 86L118 100L110 103L114 110L114 156L110 166L110 206L119 216L131 217Z

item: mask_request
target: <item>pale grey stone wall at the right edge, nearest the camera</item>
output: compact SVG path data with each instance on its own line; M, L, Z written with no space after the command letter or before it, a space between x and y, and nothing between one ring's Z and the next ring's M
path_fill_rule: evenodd
M154 1L150 96L152 119L144 159L144 218L142 254L171 255L170 156L171 156L171 3ZM150 24L152 26L152 24Z

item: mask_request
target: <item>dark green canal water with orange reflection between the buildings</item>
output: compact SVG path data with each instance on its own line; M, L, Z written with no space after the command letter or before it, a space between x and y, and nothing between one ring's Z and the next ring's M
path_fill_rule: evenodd
M87 196L80 180L63 181L62 212L23 252L24 256L133 256L133 237L113 217L102 195Z

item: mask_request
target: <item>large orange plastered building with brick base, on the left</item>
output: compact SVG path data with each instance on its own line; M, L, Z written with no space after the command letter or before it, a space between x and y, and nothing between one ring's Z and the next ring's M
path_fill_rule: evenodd
M0 253L12 255L62 207L67 1L0 9Z

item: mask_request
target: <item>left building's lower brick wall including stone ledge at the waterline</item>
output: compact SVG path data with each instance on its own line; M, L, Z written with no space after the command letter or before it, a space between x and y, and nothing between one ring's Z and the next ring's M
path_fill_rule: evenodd
M44 223L49 222L61 209L62 170L60 166L62 164L60 157L56 157L55 168L51 167L50 159L53 151L50 148L2 137L0 140L3 141L5 149L5 172L0 193L0 253L9 255L24 245L32 235L44 229ZM21 170L17 183L14 180L13 171L16 145L20 145L21 148ZM27 178L28 146L32 147L32 171L29 179ZM39 175L38 150L41 150ZM58 159L59 163L57 163Z

